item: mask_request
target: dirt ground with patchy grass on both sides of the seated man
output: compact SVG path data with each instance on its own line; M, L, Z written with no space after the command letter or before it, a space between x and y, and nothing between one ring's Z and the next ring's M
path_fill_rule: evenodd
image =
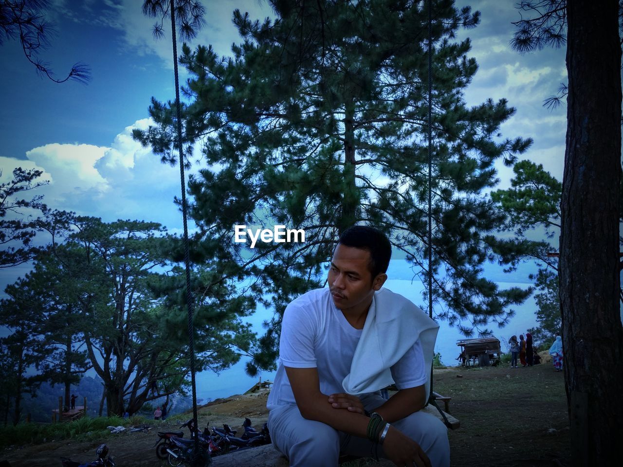
M452 397L450 412L460 420L460 428L449 433L452 466L569 464L563 373L554 372L551 364L518 369L452 367L434 370L433 379L437 392ZM242 433L244 417L249 417L260 430L268 418L267 396L267 390L262 390L211 402L199 409L199 426L228 423ZM8 460L12 467L60 466L60 456L87 462L95 458L97 445L105 442L117 467L164 467L166 461L155 455L156 431L176 430L181 423L155 421L148 433L123 432L100 441L9 448L0 452L0 460Z

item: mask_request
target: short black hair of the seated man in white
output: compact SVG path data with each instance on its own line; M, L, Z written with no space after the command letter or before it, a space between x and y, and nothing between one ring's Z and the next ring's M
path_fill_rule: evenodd
M340 243L345 247L361 248L370 252L368 269L372 279L387 272L391 258L391 243L383 232L368 225L353 225L342 232Z

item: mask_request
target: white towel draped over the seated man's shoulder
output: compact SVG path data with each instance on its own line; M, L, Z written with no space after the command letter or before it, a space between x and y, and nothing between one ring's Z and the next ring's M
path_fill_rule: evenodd
M426 365L426 394L430 391L430 366L439 324L402 295L381 288L354 351L351 372L342 382L345 392L359 395L392 384L391 366L420 339Z

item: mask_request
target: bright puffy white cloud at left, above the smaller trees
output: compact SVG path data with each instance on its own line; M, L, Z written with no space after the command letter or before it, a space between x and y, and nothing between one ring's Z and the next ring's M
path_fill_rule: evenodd
M110 146L50 143L27 151L27 160L0 158L2 180L12 169L37 168L49 185L37 189L52 209L72 210L80 215L117 219L153 220L176 228L181 225L178 208L179 167L161 164L151 149L131 138L133 128L147 128L149 119L127 126Z

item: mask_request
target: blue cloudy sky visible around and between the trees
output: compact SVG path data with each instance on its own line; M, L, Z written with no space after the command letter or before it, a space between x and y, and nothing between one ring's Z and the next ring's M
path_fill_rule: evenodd
M181 215L173 205L173 197L180 191L178 167L161 164L150 149L131 139L132 128L149 125L151 97L174 99L170 36L153 39L154 20L143 16L141 0L51 3L47 17L54 22L57 34L42 57L59 77L75 62L85 62L92 68L93 79L88 85L52 83L37 76L18 42L2 42L0 180L6 181L17 166L37 168L50 182L37 194L43 194L54 209L95 215L107 222L152 220L171 232L181 232ZM231 54L231 44L240 42L231 21L235 8L257 19L272 14L265 1L202 3L207 24L191 45L212 44L220 55ZM470 5L482 14L479 26L457 33L457 40L471 40L468 55L475 57L479 66L465 91L465 101L478 105L487 98L508 100L516 113L500 133L504 138L533 138L533 146L520 159L543 164L561 180L566 108L563 104L558 110L548 110L543 100L566 82L564 49L525 55L511 50L511 22L520 19L515 4L499 0L457 2L457 6ZM187 76L183 68L180 72L183 82ZM502 163L497 169L500 187L508 187L511 169ZM2 290L27 269L0 270ZM526 276L520 272L497 280L525 284ZM528 325L521 326L524 324ZM445 352L450 354L450 350Z

